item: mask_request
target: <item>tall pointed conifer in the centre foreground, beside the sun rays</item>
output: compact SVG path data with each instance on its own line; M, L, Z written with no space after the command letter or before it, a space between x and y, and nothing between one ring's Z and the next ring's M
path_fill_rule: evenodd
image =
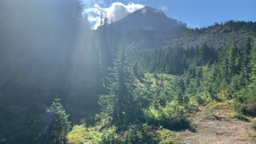
M133 92L136 88L134 84L135 76L133 67L130 66L126 58L126 50L122 46L118 48L117 58L113 68L110 69L109 94L101 96L100 105L112 117L112 123L118 129L125 128L136 121L136 104Z

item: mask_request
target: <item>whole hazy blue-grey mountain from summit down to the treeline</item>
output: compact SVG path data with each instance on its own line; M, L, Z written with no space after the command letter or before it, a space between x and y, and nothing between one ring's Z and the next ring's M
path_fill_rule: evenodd
M109 31L116 41L125 38L129 49L141 50L167 46L166 41L186 34L190 29L186 23L167 18L162 10L145 6L118 22L99 27L100 30Z

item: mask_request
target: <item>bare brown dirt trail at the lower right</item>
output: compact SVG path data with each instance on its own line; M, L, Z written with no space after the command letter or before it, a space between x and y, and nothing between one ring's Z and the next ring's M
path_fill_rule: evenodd
M176 132L174 139L182 144L255 143L256 133L250 127L251 122L229 118L229 114L227 108L211 111L201 106L192 119L194 130Z

